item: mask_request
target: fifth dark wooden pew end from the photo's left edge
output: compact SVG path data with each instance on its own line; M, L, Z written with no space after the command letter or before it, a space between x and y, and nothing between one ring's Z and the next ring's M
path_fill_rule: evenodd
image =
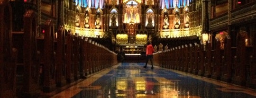
M67 32L67 50L66 50L66 80L67 83L74 81L73 77L73 35L71 30Z

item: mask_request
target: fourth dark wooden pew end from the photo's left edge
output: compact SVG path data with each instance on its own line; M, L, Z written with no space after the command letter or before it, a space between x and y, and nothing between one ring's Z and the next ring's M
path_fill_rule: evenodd
M63 26L59 26L57 31L57 50L56 50L56 85L63 87L65 80L65 31Z

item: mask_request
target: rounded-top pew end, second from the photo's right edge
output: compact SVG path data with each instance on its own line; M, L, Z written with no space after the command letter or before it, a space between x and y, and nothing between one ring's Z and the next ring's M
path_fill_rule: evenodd
M237 35L237 60L234 64L235 74L233 75L232 82L238 85L245 85L246 84L246 32L240 31Z

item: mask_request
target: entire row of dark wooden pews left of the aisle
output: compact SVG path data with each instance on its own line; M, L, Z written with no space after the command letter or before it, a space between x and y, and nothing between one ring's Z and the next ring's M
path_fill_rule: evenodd
M38 98L118 63L116 53L90 38L63 26L55 31L50 19L38 37L33 10L23 16L24 30L14 32L11 15L9 1L0 2L0 98Z

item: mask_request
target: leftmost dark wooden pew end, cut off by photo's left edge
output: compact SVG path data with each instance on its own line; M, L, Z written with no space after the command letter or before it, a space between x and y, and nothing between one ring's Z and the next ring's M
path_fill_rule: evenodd
M9 1L0 2L0 98L16 97L18 50L12 47L11 15Z

